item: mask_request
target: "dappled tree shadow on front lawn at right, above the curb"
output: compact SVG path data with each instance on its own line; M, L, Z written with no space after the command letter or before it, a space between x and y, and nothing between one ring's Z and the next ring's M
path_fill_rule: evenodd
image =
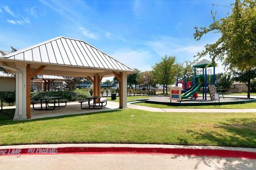
M256 119L232 118L217 124L214 129L216 131L187 132L198 141L211 141L219 146L256 148Z

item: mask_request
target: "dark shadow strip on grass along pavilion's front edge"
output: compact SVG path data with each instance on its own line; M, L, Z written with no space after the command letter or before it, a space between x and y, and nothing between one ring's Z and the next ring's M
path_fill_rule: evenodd
M121 110L107 110L107 111L90 112L90 113L77 114L77 115L65 115L65 116L31 119L31 120L28 119L28 120L13 121L15 109L4 109L3 112L1 112L0 114L0 126L26 123L26 122L37 122L42 120L54 120L54 119L61 119L61 118L68 118L68 117L77 117L77 116L83 116L83 115L89 116L89 115L98 115L98 114L109 114L111 112L119 112L119 111Z

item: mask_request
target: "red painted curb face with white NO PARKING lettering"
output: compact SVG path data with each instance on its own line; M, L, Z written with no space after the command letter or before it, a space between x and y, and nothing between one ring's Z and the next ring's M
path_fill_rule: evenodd
M133 147L64 147L64 148L22 148L0 149L0 156L7 155L47 155L47 154L102 154L102 153L159 153L193 156L216 156L231 158L256 159L256 152L220 150L220 149L185 149L185 148L133 148Z

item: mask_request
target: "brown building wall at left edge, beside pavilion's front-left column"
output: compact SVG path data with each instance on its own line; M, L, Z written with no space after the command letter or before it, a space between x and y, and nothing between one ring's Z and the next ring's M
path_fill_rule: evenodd
M0 77L0 92L15 92L15 77Z

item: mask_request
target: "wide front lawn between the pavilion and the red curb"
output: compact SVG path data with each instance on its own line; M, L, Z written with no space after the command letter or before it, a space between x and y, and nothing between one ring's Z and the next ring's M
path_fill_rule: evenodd
M0 115L0 145L157 143L256 148L256 113L167 113L135 109L13 122Z

